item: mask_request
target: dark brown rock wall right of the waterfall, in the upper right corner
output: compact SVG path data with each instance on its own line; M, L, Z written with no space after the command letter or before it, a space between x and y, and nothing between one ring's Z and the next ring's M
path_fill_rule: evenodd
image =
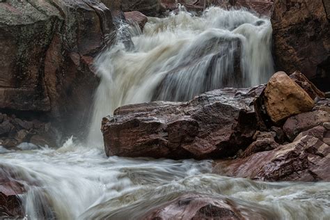
M275 0L272 13L278 70L303 71L323 91L330 90L329 1Z

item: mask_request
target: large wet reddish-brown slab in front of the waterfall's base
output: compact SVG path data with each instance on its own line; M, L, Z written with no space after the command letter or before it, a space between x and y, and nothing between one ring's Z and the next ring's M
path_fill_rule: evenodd
M118 108L102 121L108 156L219 158L235 155L258 129L253 99L264 86L222 89L190 102L150 102Z

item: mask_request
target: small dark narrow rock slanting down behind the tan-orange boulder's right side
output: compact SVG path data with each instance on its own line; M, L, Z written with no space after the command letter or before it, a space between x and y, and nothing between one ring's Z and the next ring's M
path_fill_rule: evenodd
M290 78L295 81L314 100L315 97L325 97L324 93L309 81L301 72L290 74Z

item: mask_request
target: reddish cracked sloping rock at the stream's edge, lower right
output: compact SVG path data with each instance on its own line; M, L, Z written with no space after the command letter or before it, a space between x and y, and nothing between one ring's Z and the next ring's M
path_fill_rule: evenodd
M329 145L304 136L275 150L219 162L214 173L265 181L330 181L329 153Z

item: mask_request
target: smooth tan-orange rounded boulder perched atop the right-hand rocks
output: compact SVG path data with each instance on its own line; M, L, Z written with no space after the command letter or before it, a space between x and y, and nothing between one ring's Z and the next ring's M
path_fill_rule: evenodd
M272 121L280 123L290 116L311 111L314 102L285 72L276 72L265 89L265 107Z

